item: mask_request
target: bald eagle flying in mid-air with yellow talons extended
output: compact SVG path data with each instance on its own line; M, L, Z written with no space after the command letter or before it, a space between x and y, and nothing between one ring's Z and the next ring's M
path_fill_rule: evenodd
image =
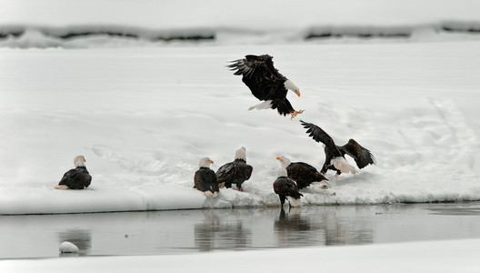
M235 75L242 75L242 81L250 88L252 94L264 101L256 106L251 106L249 110L272 108L276 109L280 115L290 115L294 118L304 111L295 111L286 99L286 93L288 90L292 90L297 96L300 96L300 89L276 70L272 58L273 56L269 55L247 55L245 59L232 61L228 67L235 71Z

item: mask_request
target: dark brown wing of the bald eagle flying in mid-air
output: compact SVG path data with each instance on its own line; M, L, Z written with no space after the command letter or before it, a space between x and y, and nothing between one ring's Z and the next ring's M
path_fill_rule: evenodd
M259 100L270 100L286 96L285 81L287 78L281 75L274 66L272 56L247 55L244 59L232 62L230 69L235 75L242 75L245 83L252 94Z

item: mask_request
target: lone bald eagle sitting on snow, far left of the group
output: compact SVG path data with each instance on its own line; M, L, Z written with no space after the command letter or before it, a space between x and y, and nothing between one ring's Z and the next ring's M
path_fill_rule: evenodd
M90 186L92 182L92 176L88 173L85 167L85 157L76 156L74 158L75 168L67 171L62 177L62 180L56 186L56 189L83 189L84 187Z

